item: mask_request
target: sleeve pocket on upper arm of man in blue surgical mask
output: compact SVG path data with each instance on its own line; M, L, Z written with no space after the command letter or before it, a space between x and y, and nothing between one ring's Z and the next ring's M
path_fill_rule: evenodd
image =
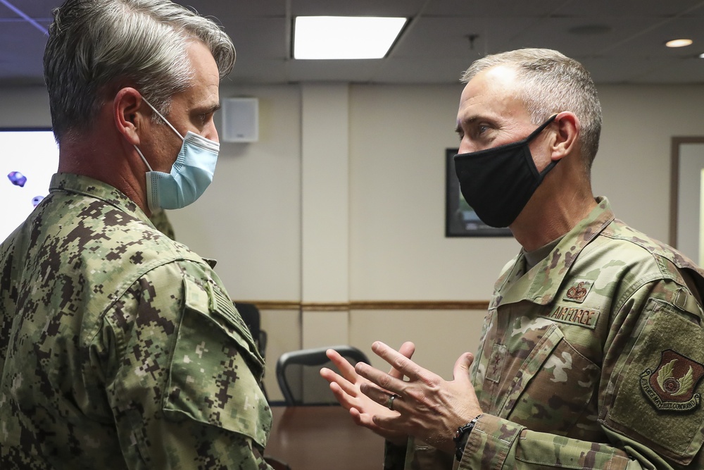
M271 411L258 380L263 361L232 302L209 284L184 278L185 304L163 409L252 438L264 447Z

